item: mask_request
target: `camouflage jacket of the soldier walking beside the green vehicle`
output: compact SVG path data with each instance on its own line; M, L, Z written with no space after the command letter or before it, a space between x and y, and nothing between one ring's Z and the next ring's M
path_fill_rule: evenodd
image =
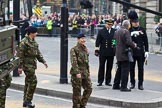
M19 68L37 68L37 60L45 63L35 39L31 40L29 36L23 38L18 48L18 57L20 58Z

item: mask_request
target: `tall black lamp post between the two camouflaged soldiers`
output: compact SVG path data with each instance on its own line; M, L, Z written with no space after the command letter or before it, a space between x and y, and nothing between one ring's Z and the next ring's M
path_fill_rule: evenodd
M68 63L68 8L67 0L62 0L61 7L61 62L60 62L60 83L68 83L67 63Z

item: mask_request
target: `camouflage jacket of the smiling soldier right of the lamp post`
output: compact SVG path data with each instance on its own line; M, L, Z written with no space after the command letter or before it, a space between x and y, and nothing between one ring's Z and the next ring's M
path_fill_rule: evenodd
M80 45L79 43L77 43L77 45L70 50L70 59L72 65L70 74L72 76L81 74L82 78L89 77L88 56L86 46Z

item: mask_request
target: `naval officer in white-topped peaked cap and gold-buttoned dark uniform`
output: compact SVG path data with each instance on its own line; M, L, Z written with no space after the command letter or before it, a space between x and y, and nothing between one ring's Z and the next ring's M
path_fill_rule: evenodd
M105 85L111 85L111 70L114 60L114 47L112 40L114 37L115 29L112 28L113 19L105 20L105 27L98 32L95 43L95 55L99 56L99 70L98 70L98 85L102 86L105 76L105 63L106 63L106 77Z

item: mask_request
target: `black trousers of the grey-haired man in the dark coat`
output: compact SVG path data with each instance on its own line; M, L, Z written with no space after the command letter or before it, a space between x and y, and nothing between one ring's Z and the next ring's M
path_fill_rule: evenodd
M115 74L114 88L120 87L121 89L127 88L128 76L129 76L130 63L129 61L118 61L118 69Z

